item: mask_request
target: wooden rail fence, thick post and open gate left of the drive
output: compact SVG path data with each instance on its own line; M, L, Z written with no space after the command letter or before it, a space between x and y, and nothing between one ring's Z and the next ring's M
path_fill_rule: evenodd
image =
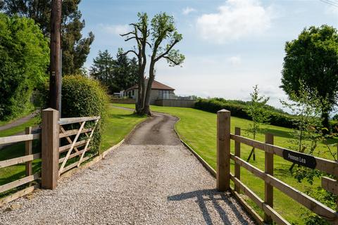
M82 162L94 156L85 153L90 150L89 143L99 120L100 117L58 119L58 111L49 108L42 111L42 129L36 134L32 134L32 127L28 127L24 135L0 137L0 145L25 141L24 156L0 161L0 169L25 163L25 176L0 186L0 193L40 179L43 188L55 188L61 174L80 167ZM33 140L41 140L42 153L32 153ZM65 145L59 146L59 143ZM37 159L42 159L41 173L32 174L32 161ZM31 192L37 186L39 184L0 199L0 205Z

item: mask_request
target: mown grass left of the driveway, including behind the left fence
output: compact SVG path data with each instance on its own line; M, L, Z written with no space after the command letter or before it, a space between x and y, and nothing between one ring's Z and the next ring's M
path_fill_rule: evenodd
M109 106L108 109L108 119L106 120L106 125L103 134L103 140L101 143L101 152L104 152L111 146L120 142L124 137L129 134L132 128L137 125L139 122L145 120L146 117L140 117L134 115L130 110L123 110L119 108L113 108L112 105ZM23 131L24 127L27 126L23 124L20 127L20 131ZM22 129L21 129L22 128ZM16 134L16 130L11 129L7 134ZM2 131L1 131L2 132ZM2 136L2 133L1 133ZM33 143L33 153L41 152L41 147L39 141L35 141ZM18 158L20 156L25 155L25 143L15 143L12 146L7 146L0 150L0 161L8 160L11 158ZM78 160L78 158L74 158L72 160ZM73 162L72 160L69 163ZM33 162L33 173L39 172L41 169L41 160L35 160ZM19 165L13 165L11 167L4 167L0 169L0 186L3 184L7 184L11 181L15 181L17 179L23 178L25 176L25 163ZM23 188L22 186L20 188ZM18 191L20 188L14 188L10 191L6 191L4 193L0 193L0 198L4 197L8 194L14 193Z

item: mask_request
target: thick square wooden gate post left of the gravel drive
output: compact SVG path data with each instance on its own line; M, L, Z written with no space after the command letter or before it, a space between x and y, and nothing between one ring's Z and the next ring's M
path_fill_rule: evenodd
M42 188L54 189L58 184L58 111L42 110Z

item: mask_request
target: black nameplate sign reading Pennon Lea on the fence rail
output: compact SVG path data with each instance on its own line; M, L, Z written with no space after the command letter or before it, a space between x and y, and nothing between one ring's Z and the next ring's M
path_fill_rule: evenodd
M315 169L317 162L315 162L315 158L312 155L306 155L303 153L296 153L292 150L283 150L283 158L284 160L288 160L290 162L294 162L303 167L308 167L311 169Z

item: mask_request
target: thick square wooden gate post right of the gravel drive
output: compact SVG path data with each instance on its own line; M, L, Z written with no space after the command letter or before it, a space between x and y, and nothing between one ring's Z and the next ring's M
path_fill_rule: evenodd
M230 111L217 112L217 189L230 189Z

